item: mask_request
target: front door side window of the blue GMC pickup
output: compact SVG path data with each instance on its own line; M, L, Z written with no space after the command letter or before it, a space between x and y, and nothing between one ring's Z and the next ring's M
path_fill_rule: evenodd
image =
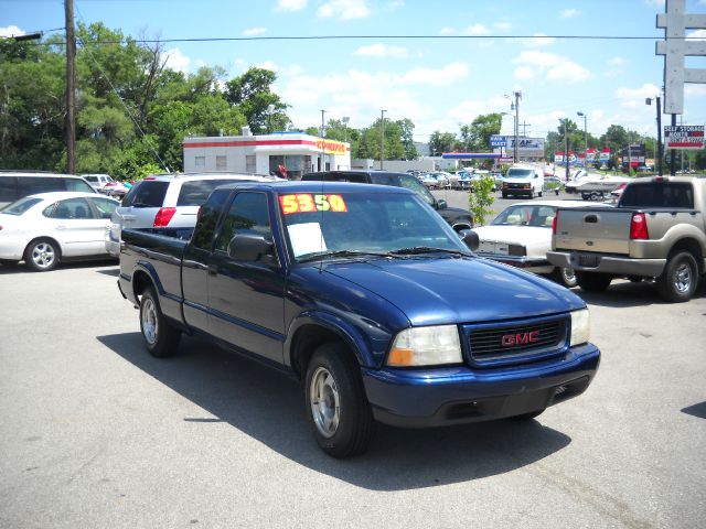
M271 239L269 208L264 193L235 195L216 240L216 250L227 251L231 239L238 234L264 235Z

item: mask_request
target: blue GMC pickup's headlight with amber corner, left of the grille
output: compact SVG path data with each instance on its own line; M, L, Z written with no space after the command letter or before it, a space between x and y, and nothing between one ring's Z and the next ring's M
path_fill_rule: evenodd
M411 327L393 342L387 365L393 367L461 364L461 343L456 325Z

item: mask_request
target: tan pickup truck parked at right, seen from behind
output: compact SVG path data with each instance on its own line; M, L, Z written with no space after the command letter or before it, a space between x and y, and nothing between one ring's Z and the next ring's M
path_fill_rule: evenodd
M547 259L587 291L648 279L663 299L687 301L706 272L705 212L706 179L638 179L616 207L559 209Z

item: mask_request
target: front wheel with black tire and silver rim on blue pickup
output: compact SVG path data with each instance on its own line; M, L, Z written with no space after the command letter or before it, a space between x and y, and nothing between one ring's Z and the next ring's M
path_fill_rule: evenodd
M338 458L363 453L373 433L357 361L342 346L324 344L307 366L307 418L319 446Z

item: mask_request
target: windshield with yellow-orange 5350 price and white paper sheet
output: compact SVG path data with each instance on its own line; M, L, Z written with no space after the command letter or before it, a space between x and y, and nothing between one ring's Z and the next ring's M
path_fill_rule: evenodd
M296 193L279 196L291 252L353 258L388 252L470 255L458 235L417 195L402 193ZM431 250L431 251L430 251Z

